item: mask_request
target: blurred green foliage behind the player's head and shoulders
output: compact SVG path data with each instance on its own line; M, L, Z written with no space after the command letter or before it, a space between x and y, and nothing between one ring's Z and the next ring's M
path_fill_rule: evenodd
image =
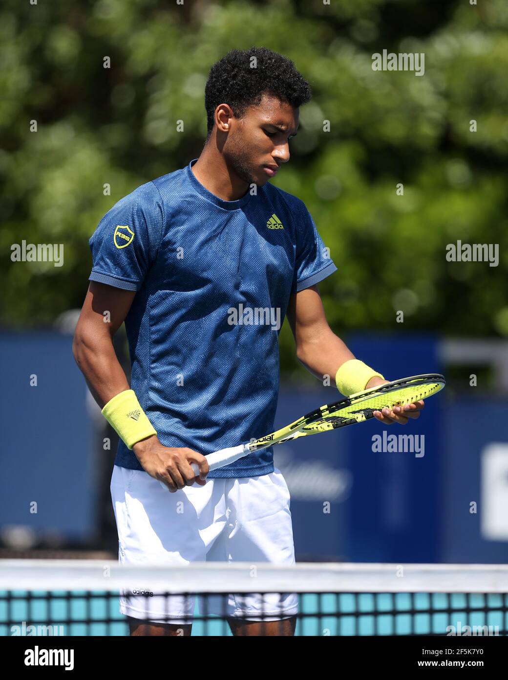
M292 58L312 84L276 184L306 203L339 268L321 284L332 328L399 330L402 310L407 330L508 335L507 5L437 5L3 3L3 324L51 324L81 305L101 216L199 155L208 69L255 44ZM384 48L424 52L424 75L373 71ZM11 262L22 239L64 243L64 267ZM499 266L447 262L457 240L498 243ZM287 328L281 345L289 369Z

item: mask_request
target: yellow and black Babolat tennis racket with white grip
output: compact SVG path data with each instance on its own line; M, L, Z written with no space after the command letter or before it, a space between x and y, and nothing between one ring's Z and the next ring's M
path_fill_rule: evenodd
M298 418L286 427L272 432L271 435L215 451L213 454L208 454L206 460L210 471L216 470L251 452L267 449L275 444L283 444L299 437L317 435L319 432L330 432L346 427L346 425L365 422L365 420L374 418L374 411L382 411L384 407L392 409L394 406L412 404L420 399L426 399L442 390L445 384L445 379L439 373L424 373L393 380L384 385L351 394L333 404L325 404L315 411L302 415L302 418ZM192 469L198 476L199 468L196 463L192 463Z

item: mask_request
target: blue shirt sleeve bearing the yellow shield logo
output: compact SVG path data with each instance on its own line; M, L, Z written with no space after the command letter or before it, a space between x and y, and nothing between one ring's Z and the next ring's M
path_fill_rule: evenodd
M163 223L164 206L153 182L118 201L90 239L90 281L139 290L157 256Z

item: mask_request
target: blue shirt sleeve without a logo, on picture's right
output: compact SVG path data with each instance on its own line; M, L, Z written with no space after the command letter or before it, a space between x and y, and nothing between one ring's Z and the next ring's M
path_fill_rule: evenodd
M298 211L300 217L297 219L293 293L310 288L337 271L312 216L305 204L302 201L299 203L301 209Z

